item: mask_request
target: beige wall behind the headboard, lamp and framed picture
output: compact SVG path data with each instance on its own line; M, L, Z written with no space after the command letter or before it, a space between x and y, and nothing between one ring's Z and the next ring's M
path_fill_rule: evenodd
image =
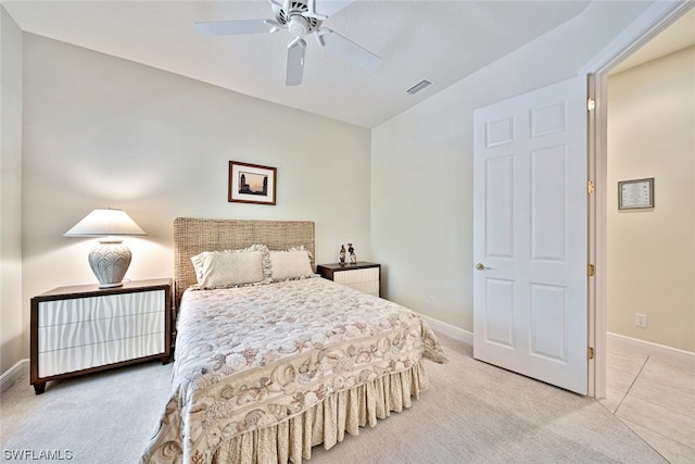
M369 130L30 34L24 45L25 314L34 294L96 283L92 241L62 235L100 206L148 233L126 241L130 279L173 276L177 216L314 221L317 263L349 241L369 259ZM227 202L229 160L277 167L277 205Z

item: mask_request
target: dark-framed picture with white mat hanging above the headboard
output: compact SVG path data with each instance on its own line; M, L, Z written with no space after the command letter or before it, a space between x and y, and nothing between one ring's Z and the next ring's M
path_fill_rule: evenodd
M275 204L277 170L257 164L229 162L229 201Z

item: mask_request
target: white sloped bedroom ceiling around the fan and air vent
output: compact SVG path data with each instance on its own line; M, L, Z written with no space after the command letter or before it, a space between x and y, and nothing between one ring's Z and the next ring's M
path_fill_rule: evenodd
M287 87L286 47L291 38L287 30L213 38L197 34L190 25L270 18L267 0L0 3L25 32L363 127L375 127L407 110L579 15L589 4L357 0L324 26L379 55L381 66L365 73L307 37L303 84ZM407 95L421 79L434 85L417 96Z

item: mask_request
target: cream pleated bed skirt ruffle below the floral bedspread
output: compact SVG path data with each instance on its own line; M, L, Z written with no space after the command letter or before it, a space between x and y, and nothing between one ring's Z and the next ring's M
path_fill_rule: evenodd
M391 412L410 407L429 388L421 361L407 371L387 374L376 380L326 398L307 411L280 424L249 431L225 441L215 452L217 464L301 464L312 457L312 447L330 449L343 441L345 432L358 435L359 427L377 425Z

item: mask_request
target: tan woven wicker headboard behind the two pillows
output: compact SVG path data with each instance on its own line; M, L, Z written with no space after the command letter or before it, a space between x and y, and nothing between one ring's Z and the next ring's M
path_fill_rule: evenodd
M315 253L314 223L306 221L174 220L174 283L176 308L184 291L195 284L191 256L203 251L237 250L265 244L270 250L304 246ZM312 268L314 259L312 258Z

